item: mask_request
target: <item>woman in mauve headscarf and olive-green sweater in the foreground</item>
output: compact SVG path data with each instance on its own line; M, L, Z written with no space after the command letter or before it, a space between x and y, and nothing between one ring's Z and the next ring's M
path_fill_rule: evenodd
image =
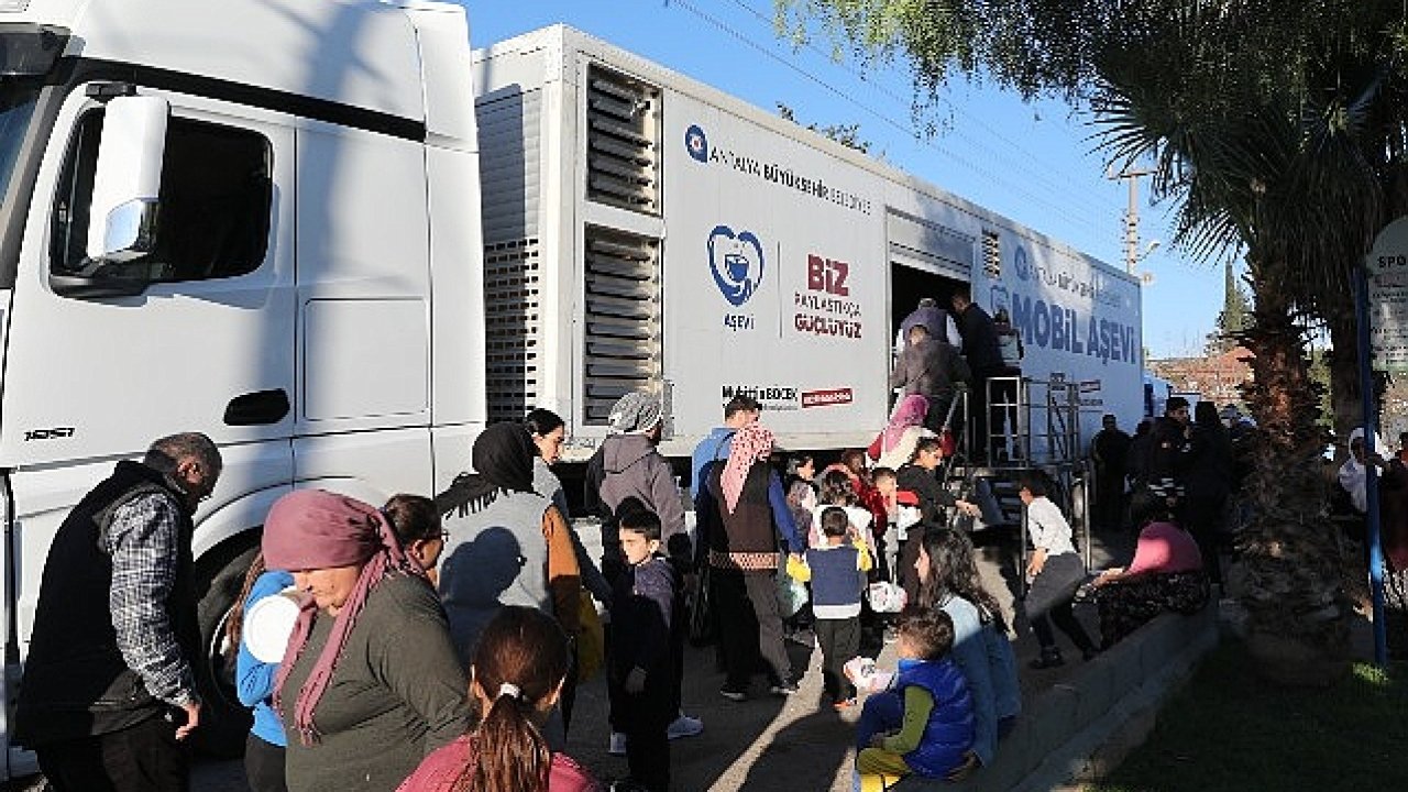
M263 555L303 595L275 683L290 792L393 789L465 731L445 612L375 506L289 493L265 521Z

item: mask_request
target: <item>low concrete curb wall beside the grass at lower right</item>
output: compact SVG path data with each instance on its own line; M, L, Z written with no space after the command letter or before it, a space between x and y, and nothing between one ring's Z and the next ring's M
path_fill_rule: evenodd
M1028 702L993 767L962 784L911 776L895 789L1045 792L1101 778L1145 741L1159 706L1218 640L1215 603L1164 613Z

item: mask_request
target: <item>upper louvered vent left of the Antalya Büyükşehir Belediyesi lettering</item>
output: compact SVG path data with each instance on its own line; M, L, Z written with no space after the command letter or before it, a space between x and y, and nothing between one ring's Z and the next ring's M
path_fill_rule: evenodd
M660 90L593 66L587 72L587 199L660 213Z

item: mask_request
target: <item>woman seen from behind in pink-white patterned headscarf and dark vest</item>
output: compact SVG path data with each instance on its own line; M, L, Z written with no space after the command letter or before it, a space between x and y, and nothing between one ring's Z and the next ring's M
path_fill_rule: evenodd
M728 672L719 695L736 702L748 698L755 645L770 668L772 692L797 691L777 610L777 543L780 537L791 554L805 545L787 509L781 478L767 465L772 452L773 433L766 427L753 423L739 428L728 461L711 468L708 485L696 499L700 520L712 523L701 536L708 544L710 596Z

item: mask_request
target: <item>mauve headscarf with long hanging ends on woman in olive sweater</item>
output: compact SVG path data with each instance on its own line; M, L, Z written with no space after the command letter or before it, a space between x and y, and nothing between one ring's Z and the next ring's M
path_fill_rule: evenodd
M303 744L311 745L318 741L313 712L332 681L332 671L342 655L352 626L362 613L362 606L366 605L367 593L391 572L421 576L425 572L401 550L396 533L380 510L355 497L321 489L300 489L275 502L265 520L263 555L270 569L290 572L363 565L356 588L338 610L328 643L322 647L322 654L318 655L294 703L294 727ZM293 636L289 637L289 648L283 652L283 664L275 682L275 705L280 712L283 685L289 679L289 671L303 654L317 609L311 596L303 598L298 621L293 627Z

